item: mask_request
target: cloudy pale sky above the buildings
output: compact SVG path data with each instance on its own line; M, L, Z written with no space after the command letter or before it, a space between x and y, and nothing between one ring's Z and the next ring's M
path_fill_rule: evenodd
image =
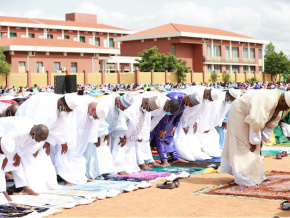
M64 20L72 12L133 31L168 23L219 28L268 40L290 55L290 0L0 0L2 16Z

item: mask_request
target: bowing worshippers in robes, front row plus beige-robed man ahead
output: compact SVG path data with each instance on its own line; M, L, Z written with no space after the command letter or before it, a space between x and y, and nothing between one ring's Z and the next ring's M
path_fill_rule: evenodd
M6 178L24 194L126 175L171 162L222 156L239 185L265 180L261 144L290 105L289 92L201 85L102 97L40 92L0 103L0 192ZM241 97L240 97L241 96ZM161 164L153 159L156 147Z

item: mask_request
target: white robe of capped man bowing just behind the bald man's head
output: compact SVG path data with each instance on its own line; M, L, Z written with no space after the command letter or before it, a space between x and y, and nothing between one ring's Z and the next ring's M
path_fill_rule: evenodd
M35 124L46 125L49 129L46 141L51 146L66 139L66 131L63 128L65 122L57 109L59 98L61 98L60 95L52 93L38 93L20 105L16 112L16 116L28 117ZM21 163L28 186L36 192L59 188L55 168L42 146L37 158L34 158L32 153L26 152L21 158Z

